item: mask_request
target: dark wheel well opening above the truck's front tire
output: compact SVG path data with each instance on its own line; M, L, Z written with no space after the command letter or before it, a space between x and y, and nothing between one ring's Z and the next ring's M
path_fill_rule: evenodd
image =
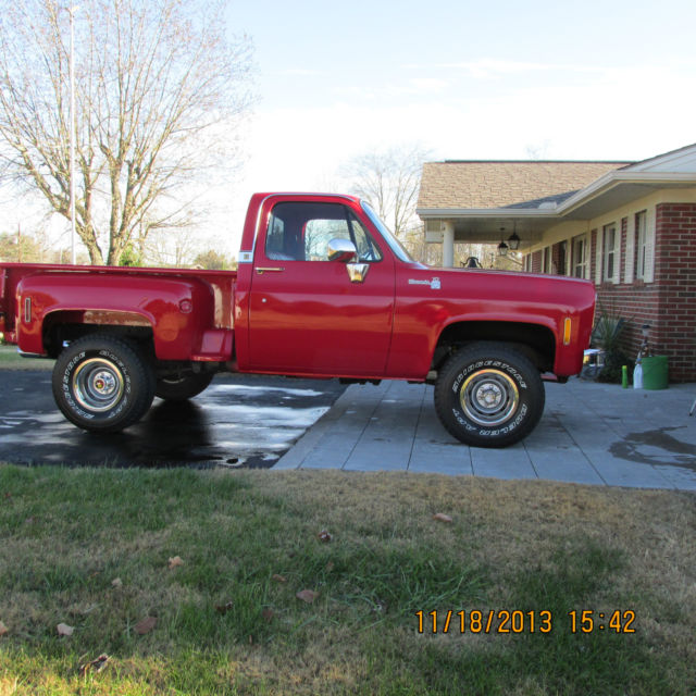
M525 355L539 372L554 369L556 340L546 326L513 322L460 322L443 331L433 356L432 370L439 370L449 356L480 340L507 343Z

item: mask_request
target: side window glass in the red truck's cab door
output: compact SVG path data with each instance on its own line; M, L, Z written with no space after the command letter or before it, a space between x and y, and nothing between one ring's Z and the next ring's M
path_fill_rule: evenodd
M265 254L278 261L328 261L327 247L332 239L352 241L363 262L382 259L364 226L339 203L285 202L275 206L269 220Z

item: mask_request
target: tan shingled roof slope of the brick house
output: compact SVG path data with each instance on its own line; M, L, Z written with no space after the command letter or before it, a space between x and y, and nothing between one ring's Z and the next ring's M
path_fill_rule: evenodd
M630 164L633 162L426 162L418 208L505 208L552 199Z

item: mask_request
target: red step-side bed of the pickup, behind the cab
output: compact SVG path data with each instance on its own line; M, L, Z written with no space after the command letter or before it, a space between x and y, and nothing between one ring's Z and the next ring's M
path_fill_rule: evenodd
M124 323L151 326L161 360L231 359L236 273L25 264L3 270L10 276L5 295L13 296L8 321L14 326L18 320L11 339L25 352L45 353L46 332L57 323Z

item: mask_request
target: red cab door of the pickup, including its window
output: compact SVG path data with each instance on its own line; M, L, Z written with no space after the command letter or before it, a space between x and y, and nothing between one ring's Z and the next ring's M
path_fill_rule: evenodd
M328 260L350 240L355 263ZM380 376L386 368L395 295L394 259L348 206L286 200L259 236L249 297L252 370Z

